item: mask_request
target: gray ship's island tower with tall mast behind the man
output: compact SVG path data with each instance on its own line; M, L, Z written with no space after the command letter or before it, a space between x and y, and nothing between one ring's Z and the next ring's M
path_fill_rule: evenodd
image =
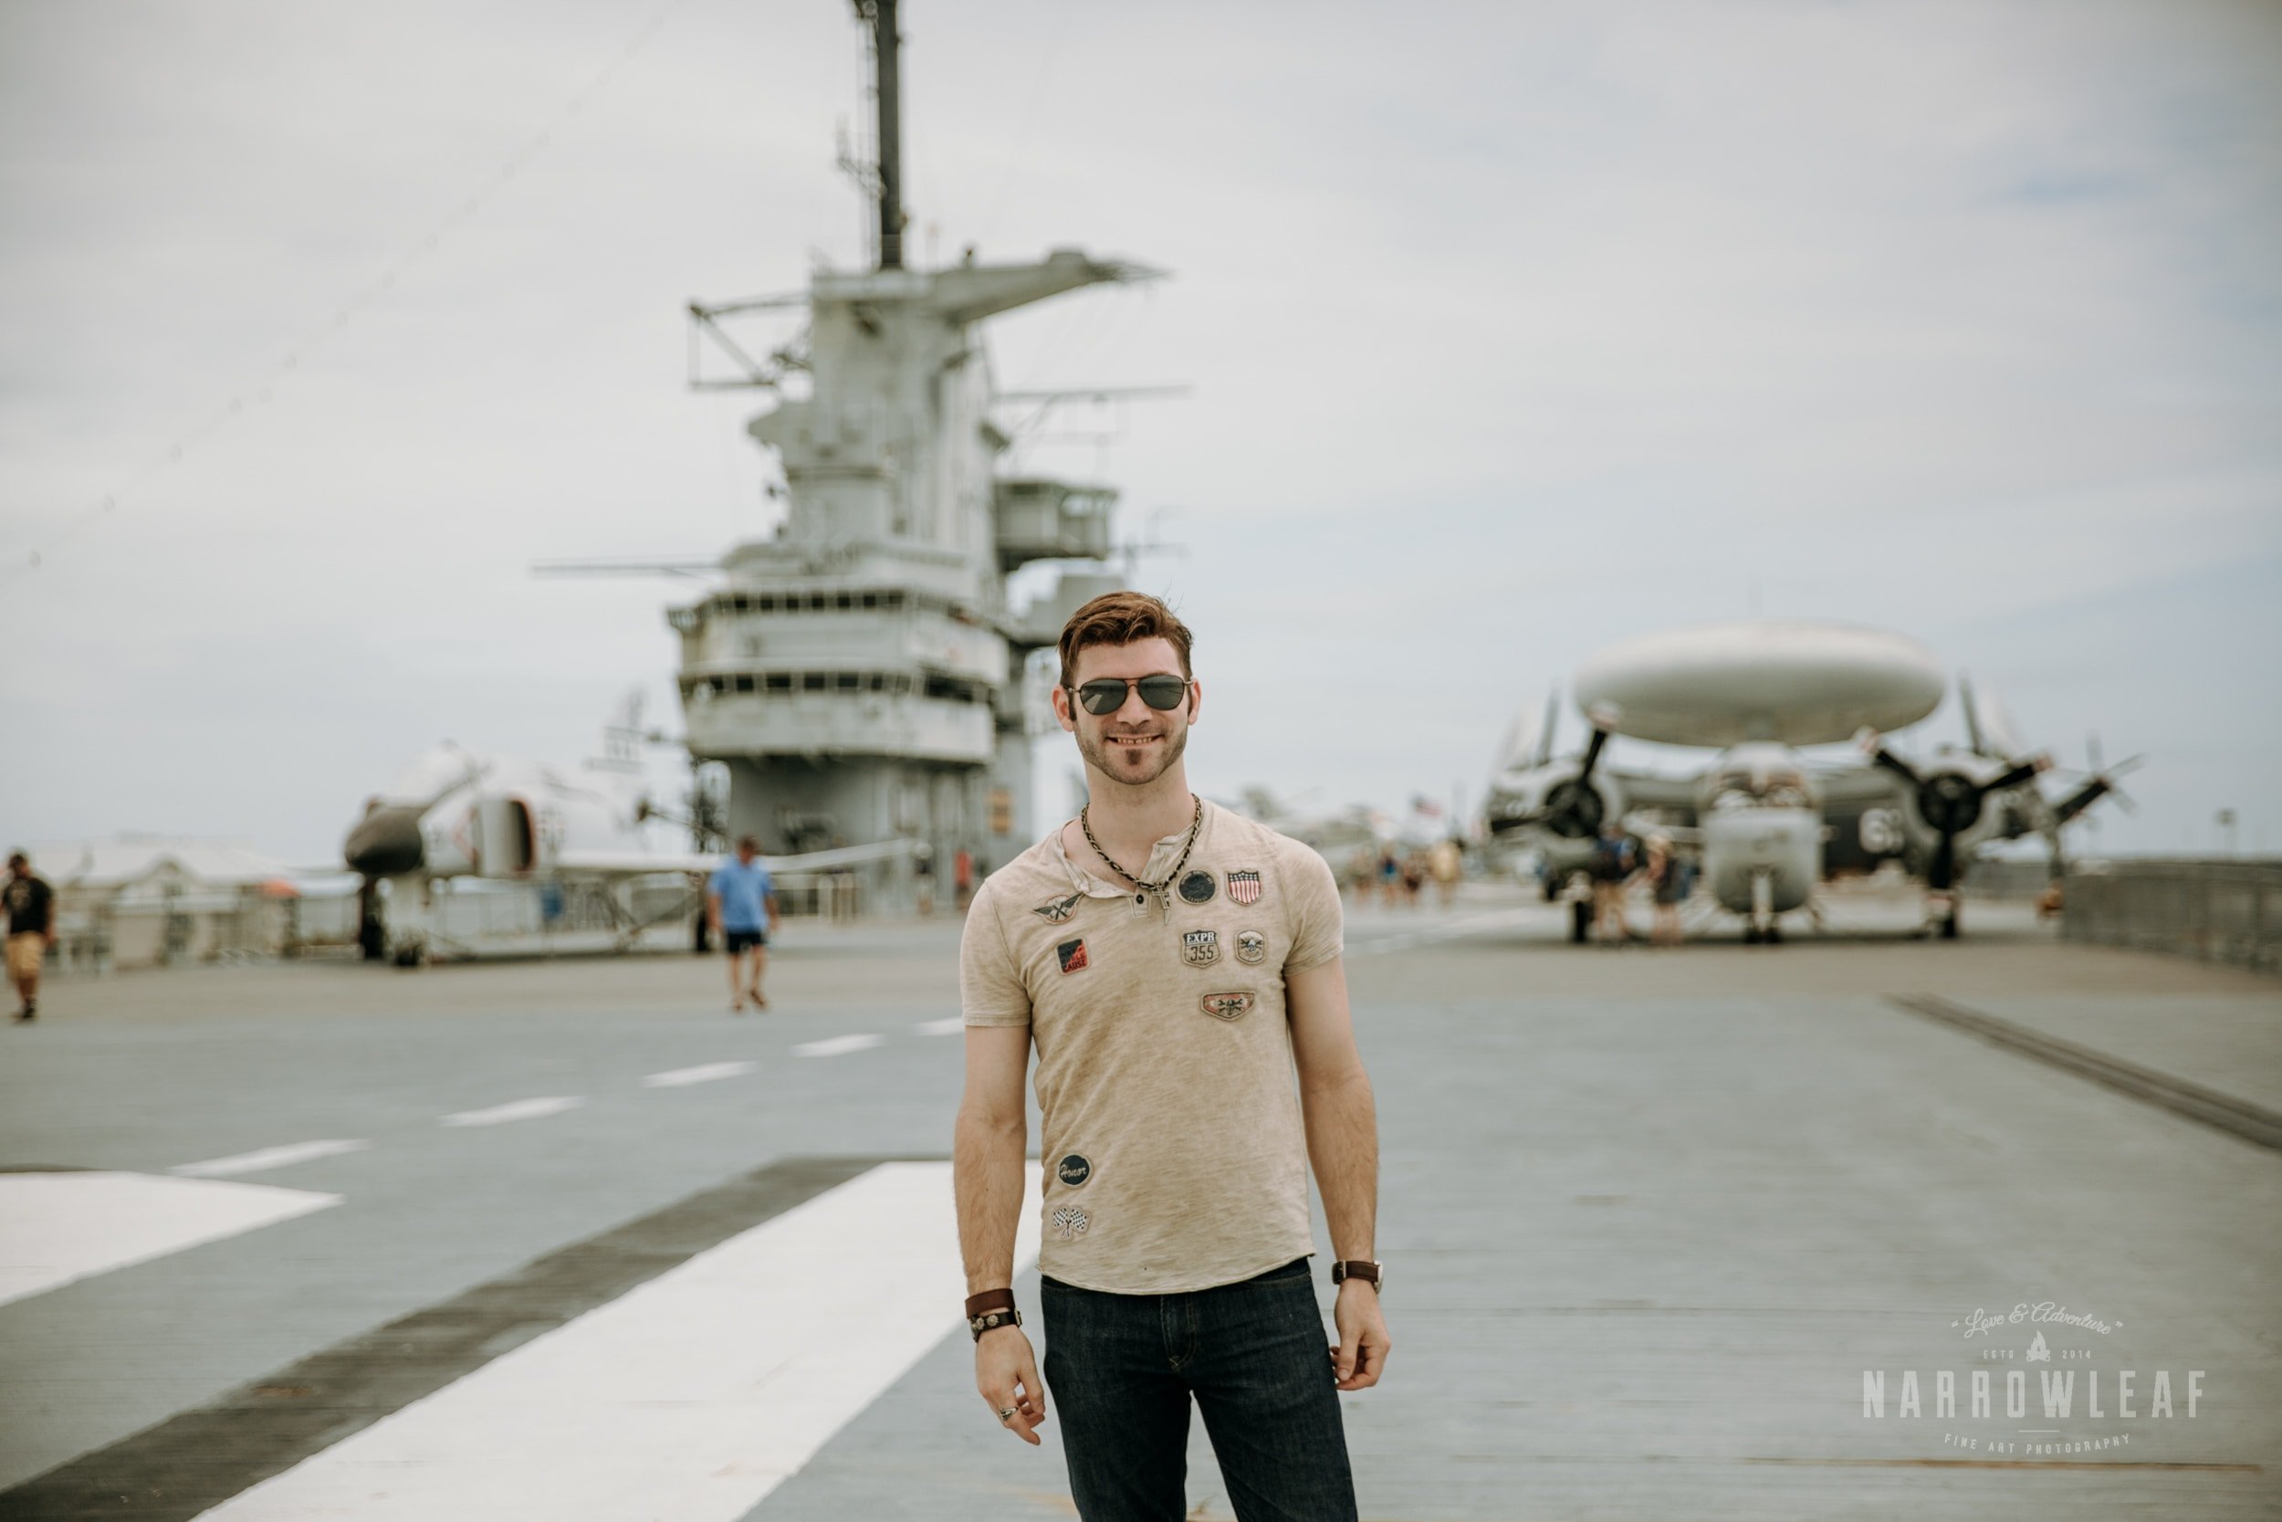
M817 272L803 340L742 383L776 390L746 431L774 450L787 511L735 545L721 584L669 614L696 762L728 767L728 831L764 851L908 840L945 869L1029 844L1041 694L1031 650L1082 600L1118 586L1116 493L1002 477L981 324L1000 313L1155 272L1057 249L1027 265L906 269L901 256L895 0L860 2L874 39L876 267ZM714 324L753 306L691 306ZM730 349L742 358L742 351ZM1011 570L1063 566L1027 609ZM881 872L908 872L881 867Z

